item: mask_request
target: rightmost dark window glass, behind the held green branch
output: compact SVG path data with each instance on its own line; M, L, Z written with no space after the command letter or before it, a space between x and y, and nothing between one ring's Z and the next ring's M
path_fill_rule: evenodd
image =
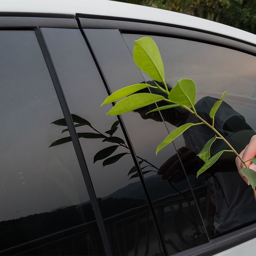
M134 40L140 35L123 35L132 51ZM215 128L240 153L255 134L256 119L256 58L235 50L192 42L188 40L151 36L159 47L164 62L166 82L172 87L181 78L193 79L197 85L195 108L199 115L212 123L209 112L224 91L228 94L215 115ZM143 73L145 79L148 75ZM174 108L172 108L173 110ZM172 131L177 120L196 123L193 116L175 120L177 112L167 110L163 114L166 124ZM179 115L179 113L178 113ZM180 156L189 176L202 166L196 157L206 141L214 136L205 126L194 126L174 141L181 148ZM186 147L186 149L182 148ZM211 153L229 149L221 140L214 142ZM193 153L195 152L195 153ZM190 155L190 157L188 157ZM256 204L251 186L239 176L235 165L235 154L224 152L217 164L206 173L206 204L200 205L209 236L217 236L256 219ZM194 189L196 187L194 186ZM198 199L200 202L200 200Z

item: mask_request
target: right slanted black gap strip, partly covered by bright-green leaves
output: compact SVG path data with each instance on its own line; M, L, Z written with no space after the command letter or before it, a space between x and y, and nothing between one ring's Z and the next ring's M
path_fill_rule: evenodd
M110 90L110 88L109 88L108 82L107 82L107 80L106 80L106 78L105 78L105 76L104 76L104 74L103 74L103 71L102 71L102 69L101 69L101 67L100 67L100 64L99 64L99 62L98 62L98 60L97 60L97 58L96 58L96 56L95 56L95 53L94 53L93 50L92 50L91 44L90 44L90 42L89 42L87 36L85 35L83 29L81 28L81 26L80 26L80 24L79 24L79 19L77 19L77 20L78 20L78 25L79 25L79 27L80 27L80 30L81 30L82 34L84 35L84 40L85 40L85 42L86 42L86 44L87 44L87 46L88 46L88 48L89 48L89 50L90 50L90 52L91 52L91 54L92 54L92 58L93 58L93 60L94 60L94 62L95 62L95 65L96 65L96 67L97 67L97 69L98 69L98 71L99 71L99 73L100 73L100 76L101 76L101 79L102 79L102 81L103 81L103 84L105 85L105 88L106 88L106 90L107 90L107 92L108 92L108 95L110 95L112 92L111 92L111 90ZM113 105L114 105L114 104L113 104ZM168 252L167 252L167 249L166 249L166 246L165 246L165 243L164 243L164 238L163 238L163 236L162 236L162 233L161 233L161 230L160 230L160 226L159 226L158 221L157 221L155 208L154 208L153 203L152 203L152 201L151 201L151 198L150 198L150 196L149 196L148 188L147 188L147 185L146 185L146 181L145 181L145 179L144 179L144 176L143 176L143 174L142 174L139 161L138 161L137 156L136 156L136 154L135 154L134 148L133 148L133 146L132 146L130 137L129 137L128 133L127 133L127 130L126 130L126 128L125 128L125 125L124 125L124 122L123 122L122 117L121 117L121 116L117 116L117 119L118 119L118 121L119 121L119 123L120 123L120 127L121 127L121 129L122 129L122 131L123 131L123 133L124 133L124 137L125 137L125 140L126 140L126 142L127 142L128 147L129 147L129 150L130 150L130 152L131 152L131 156L132 156L132 159L133 159L133 161L134 161L135 167L136 167L136 169L138 170L138 174L139 174L139 177L140 177L141 185L142 185L142 187L143 187L143 190L144 190L144 192L145 192L145 195L146 195L146 198L147 198L147 201L148 201L148 204L149 204L149 209L150 209L150 212L151 212L151 214L152 214L152 218L153 218L154 223L155 223L155 226L156 226L156 231L157 231L157 235L158 235L159 241L160 241L161 246L162 246L162 248L163 248L163 250L164 250L164 255L168 255Z

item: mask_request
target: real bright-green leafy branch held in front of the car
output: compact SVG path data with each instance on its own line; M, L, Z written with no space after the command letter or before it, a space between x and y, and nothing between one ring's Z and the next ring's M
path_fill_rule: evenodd
M215 132L215 136L207 141L201 152L197 154L197 156L199 156L204 161L204 165L198 170L196 177L198 177L209 167L211 167L219 159L223 152L233 152L245 166L241 169L241 173L251 183L256 200L256 192L254 189L256 186L256 172L247 167L245 161L241 158L241 156L239 156L239 154L224 138L224 136L214 127L215 114L218 111L221 103L225 99L227 92L224 92L221 96L221 99L214 103L209 113L209 116L212 119L212 124L209 124L196 112L195 82L192 79L181 79L177 82L177 85L172 88L171 91L169 91L164 80L163 61L154 40L150 37L142 37L139 40L136 40L134 43L135 46L133 49L133 59L136 65L154 80L156 86L152 86L150 84L134 84L112 93L110 96L108 96L106 100L104 100L102 105L112 103L117 100L119 101L117 101L116 104L108 111L107 115L114 116L124 114L126 112L136 110L138 108L142 108L162 100L166 101L169 105L155 108L148 113L175 107L185 108L188 112L195 115L201 122L196 124L186 123L176 128L158 145L158 147L156 148L156 155L161 149L166 147L170 142L172 142L190 127L195 125L207 125L209 128L212 129L212 131ZM157 82L162 82L164 84L164 88L160 87ZM140 91L142 88L154 88L154 90L160 90L161 92L164 92L168 95L168 99L159 94L138 93L138 91ZM223 140L228 145L230 150L221 150L214 156L211 156L210 149L215 140ZM252 160L253 163L256 163L255 158L252 158L250 160Z

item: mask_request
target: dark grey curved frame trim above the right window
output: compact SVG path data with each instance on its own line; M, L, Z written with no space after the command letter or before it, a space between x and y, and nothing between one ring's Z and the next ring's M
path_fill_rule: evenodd
M82 28L119 29L121 33L167 36L213 44L256 56L256 44L205 30L173 24L123 19L109 16L77 14Z

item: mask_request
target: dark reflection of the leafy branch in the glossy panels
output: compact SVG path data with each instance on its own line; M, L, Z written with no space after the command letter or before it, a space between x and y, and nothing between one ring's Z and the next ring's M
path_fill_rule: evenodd
M141 88L142 87L143 86L141 86ZM123 139L121 139L119 137L116 137L116 136L113 136L114 133L118 129L119 121L116 121L114 124L112 124L111 128L108 131L104 132L106 134L105 135L102 132L99 132L97 129L95 129L92 126L92 124L90 122L88 122L87 120L85 120L84 118L82 118L80 116L77 116L75 114L71 114L71 116L72 116L75 127L81 127L81 126L86 125L86 126L89 126L94 131L94 132L77 132L78 138L103 139L102 142L107 141L107 142L111 142L111 143L116 144L116 145L113 145L113 146L109 146L107 148L103 148L99 152L97 152L95 154L95 156L93 157L93 163L95 163L99 160L105 159L102 163L102 165L104 167L104 166L109 165L109 164L114 164L118 160L120 160L123 156L125 156L127 154L130 154L129 152L123 152L123 153L119 153L119 154L116 154L114 156L111 156L116 151L116 149L118 147L123 147L123 148L129 150L128 146L125 144ZM52 122L52 124L60 125L60 126L67 126L65 118L58 119L58 120ZM64 130L62 130L61 133L64 133L64 132L67 132L67 131L68 131L68 128L65 128ZM72 141L70 136L64 137L64 138L61 138L59 140L56 140L56 141L52 142L52 144L49 147L58 146L58 145L61 145L61 144L64 144L64 143L67 143L67 142L70 142L70 141ZM143 174L146 174L148 172L157 172L158 168L155 165L151 164L146 159L143 159L139 156L137 156L137 158L141 160L139 162L140 165L142 165L143 163L147 164L146 166L143 166L143 167L141 166L141 170L145 169L146 167L150 167L151 169L153 169L153 170L144 171L144 172L142 172ZM139 177L137 169L136 169L135 166L133 166L130 169L130 171L128 172L128 176L131 175L131 174L133 174L133 175L130 177L130 179L135 178L135 177Z

